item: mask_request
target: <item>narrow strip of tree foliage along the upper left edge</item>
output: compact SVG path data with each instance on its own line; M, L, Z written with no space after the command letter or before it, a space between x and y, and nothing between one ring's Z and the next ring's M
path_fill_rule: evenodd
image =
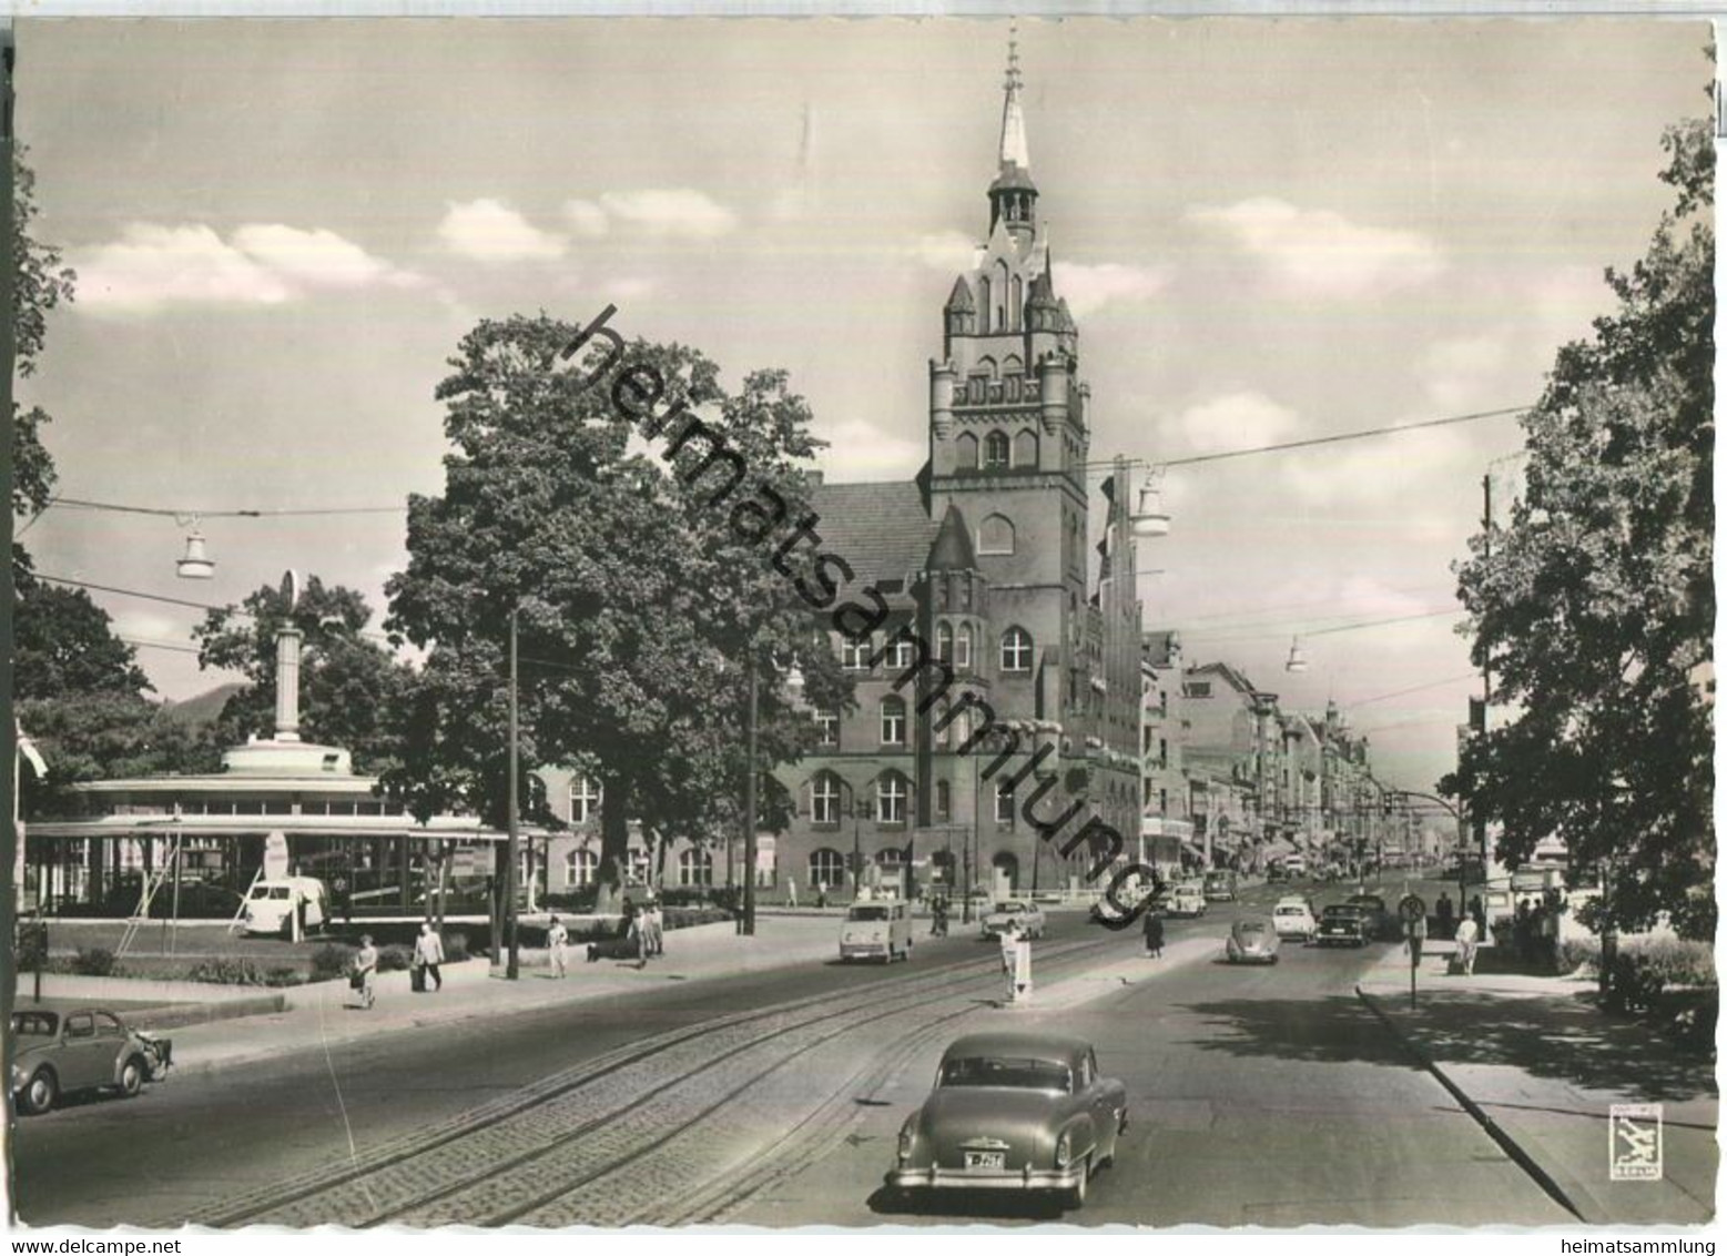
M17 354L17 373L36 373L48 330L48 311L73 299L78 278L69 266L60 264L60 251L40 244L29 233L36 218L36 174L24 164L24 149L12 157L12 335ZM54 458L41 444L41 428L48 413L41 406L24 409L12 401L12 513L33 515L47 508L54 492ZM12 546L14 568L29 568L22 546Z

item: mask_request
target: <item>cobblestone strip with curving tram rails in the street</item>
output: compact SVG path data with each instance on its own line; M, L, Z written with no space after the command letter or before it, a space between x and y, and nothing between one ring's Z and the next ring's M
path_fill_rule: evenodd
M1050 947L1043 969L1081 966L1097 945ZM307 1173L193 1221L653 1221L807 1125L836 1085L860 1076L860 1059L986 1004L996 983L993 959L979 959L867 999L824 995L644 1038L414 1132L375 1151L370 1164ZM762 1164L753 1168L760 1177Z

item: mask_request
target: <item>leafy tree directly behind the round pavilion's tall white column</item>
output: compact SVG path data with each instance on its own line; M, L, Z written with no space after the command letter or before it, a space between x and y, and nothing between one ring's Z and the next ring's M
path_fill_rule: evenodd
M288 612L280 589L264 586L240 608L212 610L193 629L199 665L242 672L250 684L228 698L221 726L231 741L276 729L276 632L292 622L300 643L300 736L354 752L354 767L378 771L399 755L397 708L411 670L364 636L371 608L342 586L306 580Z

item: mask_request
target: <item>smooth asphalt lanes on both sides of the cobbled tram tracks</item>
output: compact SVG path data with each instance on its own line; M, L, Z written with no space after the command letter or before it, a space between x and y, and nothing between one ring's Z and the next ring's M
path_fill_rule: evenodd
M1237 910L1264 907L1275 895L1276 888L1256 890L1238 909L1171 923L1169 942L1221 940ZM991 954L958 928L948 940L919 938L917 959L895 967L808 964L689 985L668 980L649 995L444 1024L313 1059L174 1080L131 1102L74 1102L16 1126L16 1209L35 1225L178 1223L294 1173L364 1163L368 1149L661 1030L834 990L864 993ZM1052 917L1052 945L1100 936L1079 916ZM1136 936L1112 936L1098 947L1098 962L1126 961L1136 948ZM1133 1095L1135 1130L1119 1164L1093 1183L1083 1220L1565 1220L1359 1007L1352 981L1382 950L1383 943L1366 952L1295 947L1269 969L1171 966L1062 1014L1062 1026L1091 1037L1105 1069L1123 1076ZM675 966L668 969L675 976ZM826 1154L812 1152L803 1171L734 1220L1036 1220L1017 1201L1009 1208L958 1201L958 1213L877 1211L893 1137L922 1099L939 1045L914 1056L869 1106L860 1104L853 1128Z

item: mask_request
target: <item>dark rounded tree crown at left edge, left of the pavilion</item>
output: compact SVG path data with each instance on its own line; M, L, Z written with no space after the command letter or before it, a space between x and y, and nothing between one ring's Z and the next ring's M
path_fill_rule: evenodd
M19 701L85 695L138 698L150 681L109 613L83 589L26 579L17 587L12 684Z

